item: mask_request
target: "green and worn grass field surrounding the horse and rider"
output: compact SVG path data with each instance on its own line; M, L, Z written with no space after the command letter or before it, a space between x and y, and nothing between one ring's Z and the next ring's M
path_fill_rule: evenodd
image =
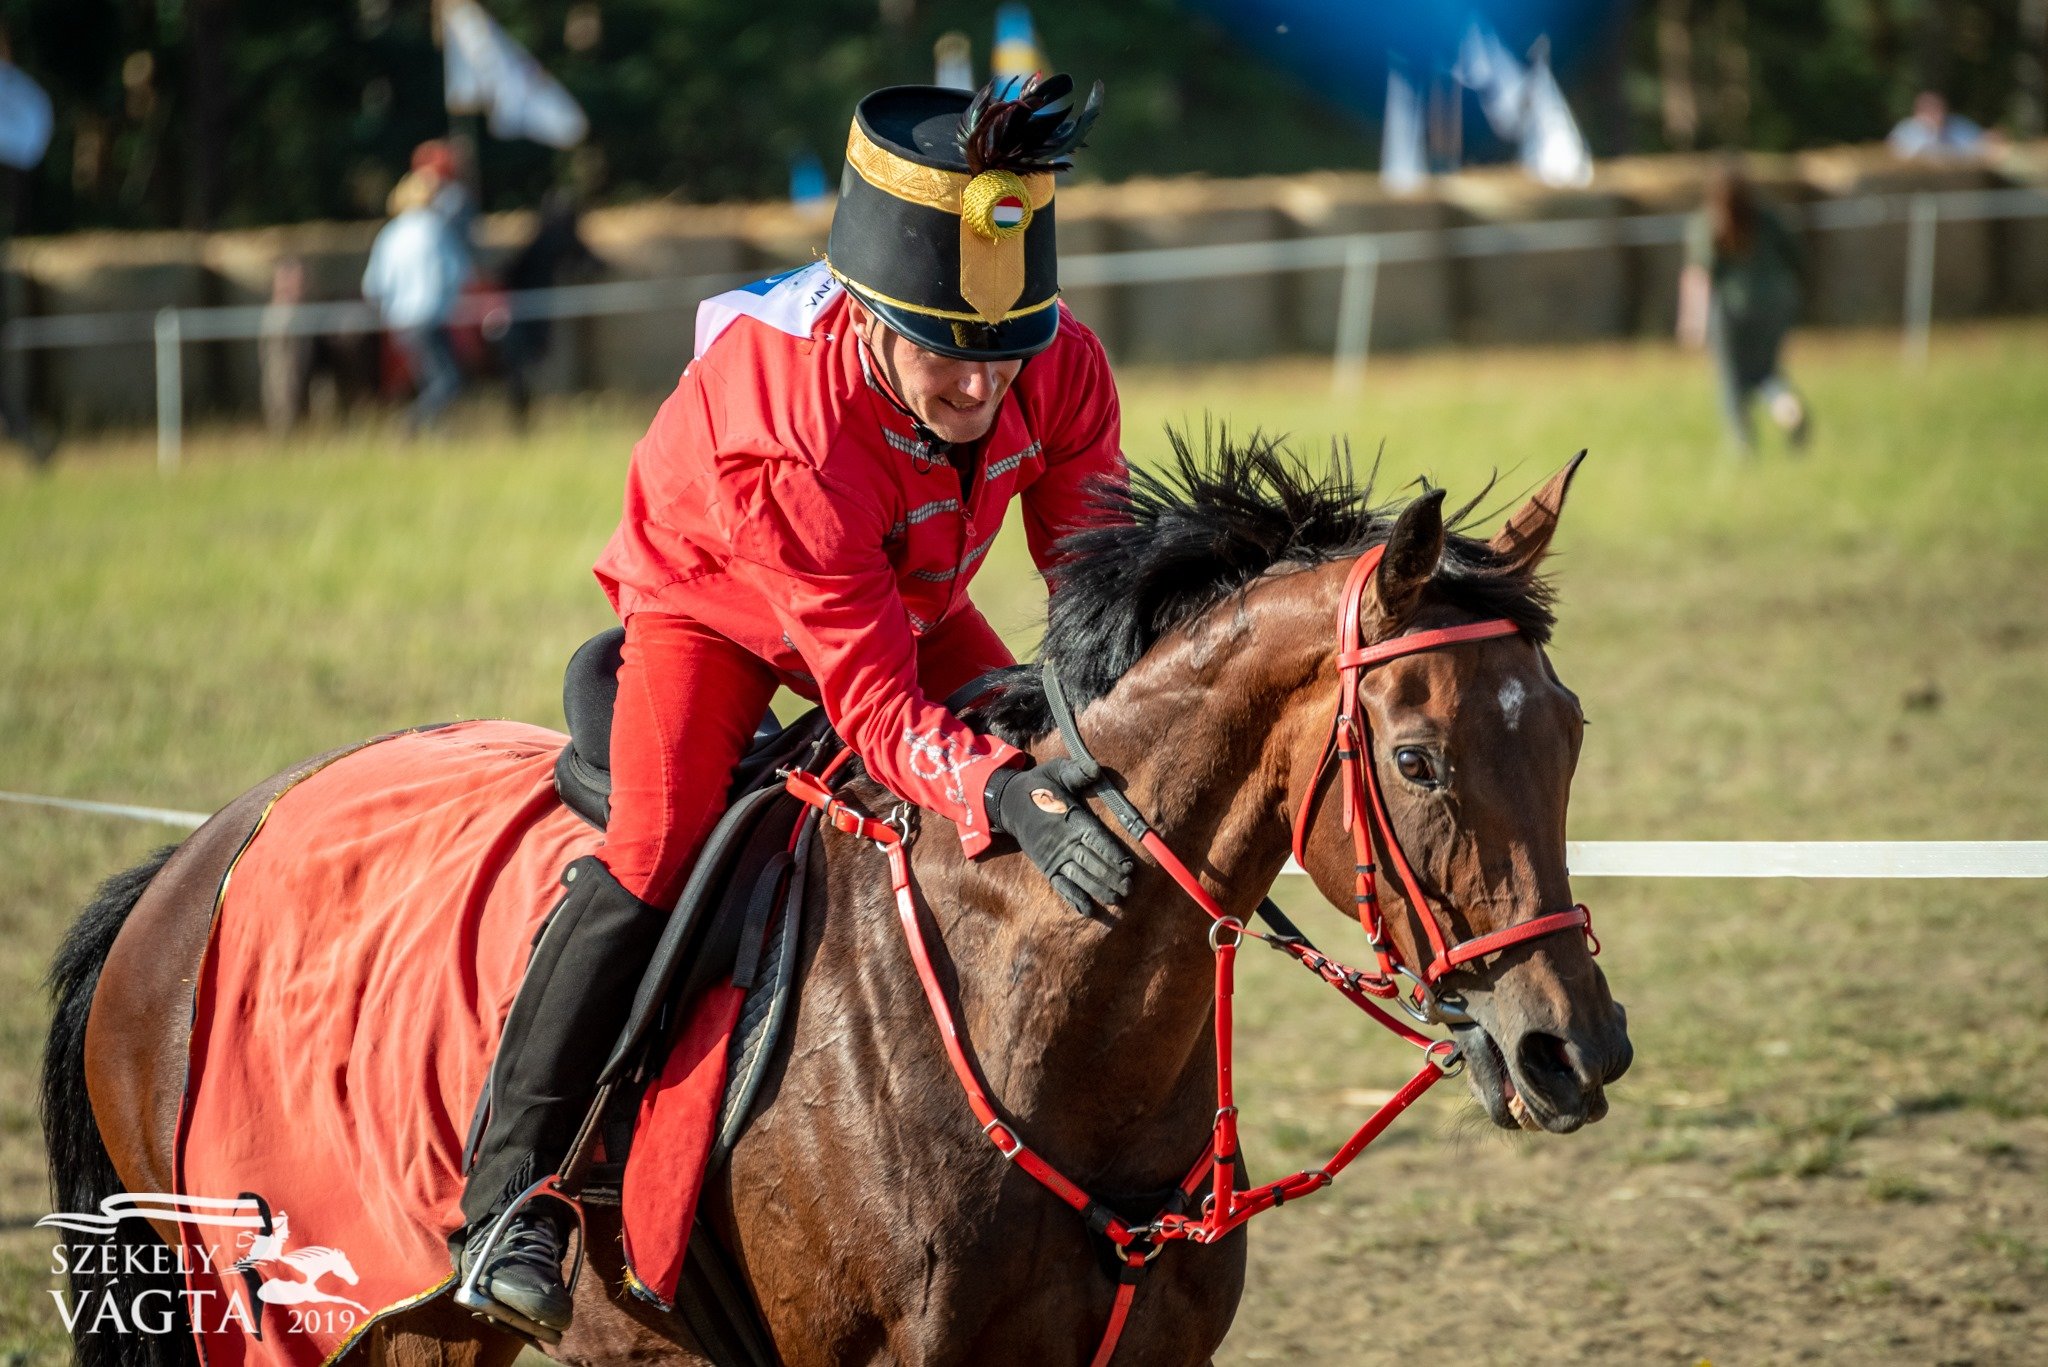
M1204 412L1343 432L1384 441L1389 492L1499 471L1491 506L1591 447L1552 562L1593 723L1577 838L2042 838L2048 326L1937 334L1923 375L1888 334L1802 340L1792 371L1798 459L1733 459L1702 363L1634 346L1374 361L1346 402L1311 365L1130 373L1126 445ZM0 789L211 810L393 726L559 723L649 412L524 441L475 412L410 447L199 432L174 480L139 437L0 469ZM1020 543L977 598L1028 648ZM49 1209L37 982L92 883L164 838L0 807L0 1363L63 1357L49 1240L20 1230ZM2038 883L1577 892L1636 1041L1612 1117L1499 1135L1440 1088L1253 1226L1223 1361L2048 1359ZM1276 957L1243 976L1251 1158L1319 1160L1409 1060Z

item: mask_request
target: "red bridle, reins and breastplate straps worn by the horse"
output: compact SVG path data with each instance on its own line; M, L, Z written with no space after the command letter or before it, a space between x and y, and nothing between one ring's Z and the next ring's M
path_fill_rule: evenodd
M1364 600L1366 584L1370 584L1372 572L1380 564L1380 555L1382 547L1368 549L1358 557L1358 564L1352 566L1352 574L1346 580L1343 607L1337 623L1337 713L1331 723L1329 742L1323 746L1323 758L1309 777L1309 791L1303 793L1303 801L1294 818L1294 857L1300 859L1307 844L1311 820L1309 812L1315 805L1315 795L1321 789L1323 775L1329 773L1331 754L1335 754L1337 771L1343 783L1343 824L1352 832L1358 863L1358 914L1366 928L1366 939L1378 955L1378 974L1362 974L1329 959L1303 935L1294 933L1292 926L1286 926L1284 920L1280 922L1282 933L1278 935L1264 935L1247 928L1243 920L1231 916L1221 904L1217 904L1208 889L1202 887L1202 883L1188 871L1174 851L1167 848L1165 840L1159 838L1159 832L1151 828L1130 799L1108 783L1102 783L1094 793L1130 834L1130 838L1143 844L1151 857L1159 861L1159 867L1165 869L1167 877L1171 877L1196 906L1208 912L1212 922L1208 930L1208 945L1217 955L1217 1119L1202 1156L1196 1158L1188 1176L1174 1191L1174 1197L1149 1224L1135 1226L1090 1197L1079 1185L1024 1144L1024 1137L1012 1127L1012 1123L1001 1119L997 1113L995 1103L981 1084L981 1076L967 1058L967 1045L961 1039L961 1027L952 1014L952 1002L946 998L946 988L940 984L938 974L932 967L930 945L926 941L924 922L918 916L918 900L909 881L909 853L905 848L907 822L901 826L881 822L840 801L829 787L831 769L827 769L823 777L791 773L784 781L788 791L805 803L817 807L821 818L829 822L834 830L870 840L889 859L889 883L895 889L897 922L903 928L903 939L909 943L911 961L918 967L918 982L924 986L926 1004L932 1008L932 1019L938 1023L940 1041L946 1047L946 1060L952 1064L961 1090L967 1094L969 1109L981 1123L981 1133L989 1137L1004 1158L1014 1162L1032 1180L1040 1183L1055 1197L1079 1211L1090 1230L1102 1234L1116 1246L1122 1271L1118 1275L1116 1297L1110 1303L1110 1320L1102 1332L1100 1344L1096 1347L1092 1367L1106 1367L1110 1357L1116 1353L1116 1342L1130 1316L1130 1301L1137 1295L1137 1283L1165 1244L1174 1240L1214 1244L1253 1215L1274 1209L1294 1197L1305 1197L1311 1191L1329 1187L1337 1178L1337 1172L1350 1166L1350 1162L1358 1158L1358 1154L1362 1154L1364 1148L1372 1144L1372 1140L1376 1140L1397 1115L1407 1111L1415 1099L1440 1080L1460 1072L1464 1060L1456 1041L1430 1039L1427 1035L1409 1029L1395 1017L1380 1010L1380 1006L1372 1000L1374 996L1395 998L1417 1019L1442 1019L1432 986L1454 967L1470 963L1481 955L1507 949L1509 945L1520 945L1540 935L1552 935L1556 930L1583 928L1591 941L1591 918L1583 906L1575 906L1569 912L1538 916L1520 926L1507 926L1491 935L1481 935L1454 947L1444 945L1444 935L1436 924L1430 902L1423 898L1421 885L1417 883L1407 857L1401 853L1401 842L1395 838L1393 822L1386 816L1386 801L1380 795L1378 777L1370 762L1372 738L1370 728L1364 721L1358 685L1366 670L1386 660L1460 641L1481 641L1495 635L1509 635L1516 631L1516 625L1509 621L1483 621L1464 627L1415 631L1376 646L1362 646L1358 609ZM1067 738L1069 752L1075 758L1087 760L1087 746L1081 744L1079 730L1075 728L1067 701L1061 695L1059 680L1051 670L1047 670L1047 701L1053 707L1053 717L1059 723L1059 730ZM840 758L844 760L848 754L850 752L842 752ZM838 762L834 769L836 767ZM1372 826L1378 828L1389 857L1395 863L1395 871L1401 875L1403 889L1409 896L1409 906L1415 908L1415 916L1427 928L1430 943L1436 949L1436 957L1430 965L1425 965L1421 978L1401 963L1397 951L1386 939L1386 926L1380 918L1374 885L1372 834L1366 822L1360 820L1360 812L1370 814ZM1278 916L1274 910L1268 910L1266 914L1268 918ZM1317 978L1341 992L1360 1010L1370 1012L1374 1021L1423 1051L1423 1066L1415 1070L1401 1090L1384 1101L1335 1154L1331 1154L1329 1162L1321 1168L1307 1168L1260 1187L1237 1185L1237 1105L1231 1076L1235 1041L1231 1000L1237 988L1237 947L1245 937L1262 939L1274 949L1288 953L1317 974ZM1593 941L1593 953L1597 951L1599 943ZM1399 992L1395 976L1411 978L1415 982L1413 994ZM1190 1203L1196 1209L1194 1215L1188 1213Z

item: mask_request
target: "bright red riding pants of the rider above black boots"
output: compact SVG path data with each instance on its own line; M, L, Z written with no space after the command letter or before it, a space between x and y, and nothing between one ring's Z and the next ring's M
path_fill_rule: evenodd
M973 607L918 641L926 697L944 699L1006 664L1014 656ZM778 682L758 656L688 617L627 617L612 709L612 812L598 859L643 902L672 906L682 894Z

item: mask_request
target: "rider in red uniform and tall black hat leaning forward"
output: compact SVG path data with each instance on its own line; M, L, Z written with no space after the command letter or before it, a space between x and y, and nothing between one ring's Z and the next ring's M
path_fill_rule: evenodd
M457 1238L553 1172L639 971L776 687L819 699L868 773L1022 848L1087 912L1130 857L1061 783L932 699L1012 664L967 584L1012 498L1032 560L1124 478L1102 344L1059 303L1053 170L1094 119L1071 82L895 86L860 102L827 260L709 299L696 357L633 449L598 580L627 627L604 846L565 873L489 1080ZM1001 117L997 117L1001 115ZM1010 840L997 842L999 836ZM563 1209L532 1201L483 1269L496 1314L569 1322Z

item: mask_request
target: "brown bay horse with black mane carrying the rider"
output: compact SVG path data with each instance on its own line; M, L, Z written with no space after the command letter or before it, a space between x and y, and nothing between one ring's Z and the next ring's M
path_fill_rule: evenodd
M1257 441L1206 461L1182 449L1176 473L1137 478L1126 525L1075 539L1044 658L1090 748L1227 912L1251 916L1286 865L1296 810L1327 797L1333 623L1368 545L1386 551L1360 611L1364 641L1473 619L1520 627L1366 674L1370 762L1430 902L1386 887L1401 955L1427 961L1423 916L1466 939L1571 904L1565 805L1583 717L1544 656L1552 619L1538 564L1575 467L1481 541L1454 529L1462 514L1446 531L1440 492L1395 514L1337 465L1315 475ZM981 721L1038 758L1063 748L1034 670L1010 676ZM289 781L109 883L66 943L45 1062L63 1209L170 1191L186 1058L182 1029L166 1027L190 1012L221 875ZM889 801L866 781L850 793L877 812ZM1354 851L1337 805L1319 801L1305 865L1350 908ZM1202 1150L1217 1105L1208 920L1145 855L1128 902L1100 918L1077 918L1016 855L967 863L954 840L924 838L911 869L997 1105L1063 1172L1149 1217ZM809 889L784 1062L705 1197L776 1351L788 1363L1087 1361L1116 1291L1102 1240L969 1115L885 861L827 834ZM1579 935L1491 953L1444 988L1470 1019L1458 1027L1468 1080L1497 1125L1567 1133L1606 1113L1604 1086L1628 1068L1630 1045ZM596 1275L557 1357L702 1361L674 1320L623 1293L616 1215L602 1215ZM1116 1361L1206 1363L1243 1271L1241 1232L1167 1248ZM516 1353L444 1297L385 1318L367 1340L373 1363L406 1367ZM182 1340L80 1338L88 1363L188 1355Z

